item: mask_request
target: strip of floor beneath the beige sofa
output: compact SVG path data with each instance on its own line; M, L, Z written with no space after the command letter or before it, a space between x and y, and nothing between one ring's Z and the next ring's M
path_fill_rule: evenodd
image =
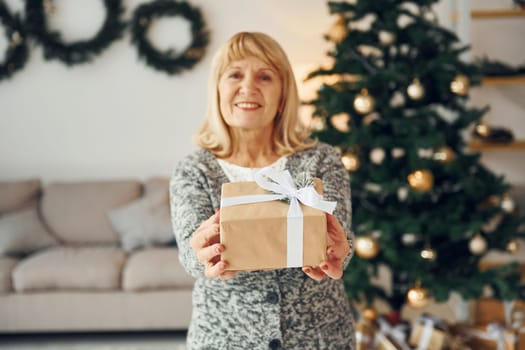
M185 332L0 335L1 350L185 350Z

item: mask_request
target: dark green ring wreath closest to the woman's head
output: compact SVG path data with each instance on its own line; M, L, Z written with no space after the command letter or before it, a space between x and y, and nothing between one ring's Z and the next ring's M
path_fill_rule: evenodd
M192 42L183 52L168 49L159 51L147 39L151 23L161 16L182 16L191 23ZM131 21L131 40L137 46L139 57L154 69L177 74L192 68L204 56L208 45L208 31L197 8L184 1L157 0L139 6Z

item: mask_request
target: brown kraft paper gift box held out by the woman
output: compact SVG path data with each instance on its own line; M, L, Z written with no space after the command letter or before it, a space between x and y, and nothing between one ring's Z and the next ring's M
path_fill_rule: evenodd
M290 178L291 179L291 178ZM313 179L317 193L322 183ZM233 182L222 186L221 202L228 198L271 194L256 182ZM325 201L326 202L326 201ZM333 203L334 202L328 202ZM326 260L327 233L325 212L300 204L302 218L289 218L290 204L281 200L224 206L220 211L220 240L225 250L221 260L227 270L251 271L286 267L317 266ZM333 210L333 209L332 209ZM288 244L289 224L302 222L302 246ZM292 240L293 241L293 240ZM302 261L289 262L290 250L301 251ZM297 259L296 259L297 261Z

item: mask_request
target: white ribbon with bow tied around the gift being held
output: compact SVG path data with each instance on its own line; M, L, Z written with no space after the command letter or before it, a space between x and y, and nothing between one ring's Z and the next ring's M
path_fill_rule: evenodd
M254 175L261 188L273 194L228 197L221 199L221 207L269 202L287 199L290 207L287 214L286 260L288 267L303 266L303 211L302 204L332 214L336 202L325 201L313 186L297 188L288 170L276 171L270 167L262 168Z

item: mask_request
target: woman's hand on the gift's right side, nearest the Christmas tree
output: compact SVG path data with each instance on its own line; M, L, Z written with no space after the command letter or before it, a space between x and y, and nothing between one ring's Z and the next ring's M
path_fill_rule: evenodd
M333 279L343 277L343 260L350 253L345 230L334 215L326 214L328 232L327 260L319 266L303 267L304 273L314 280L321 281L325 276Z

